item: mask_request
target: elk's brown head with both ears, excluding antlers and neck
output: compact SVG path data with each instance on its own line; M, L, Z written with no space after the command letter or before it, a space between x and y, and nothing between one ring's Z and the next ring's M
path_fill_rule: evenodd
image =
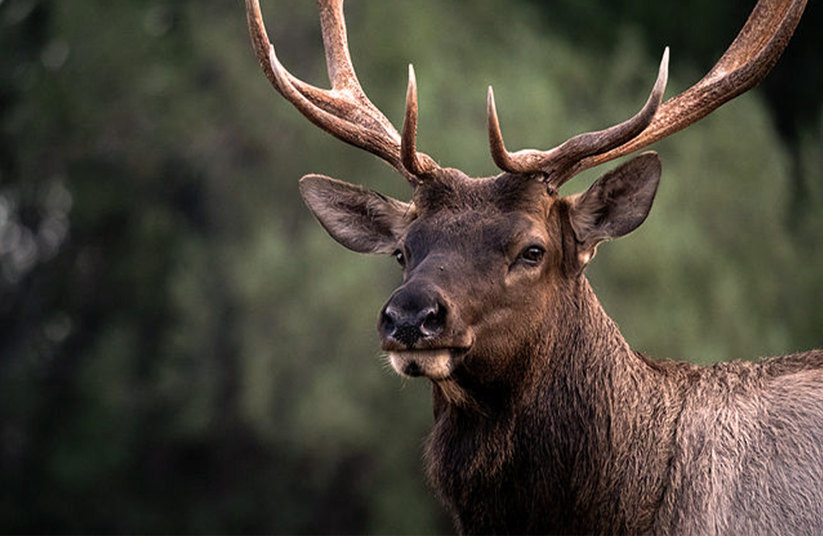
M411 203L319 175L301 191L342 245L401 264L402 285L378 321L394 370L489 385L551 337L570 279L600 241L644 220L659 175L657 156L645 153L568 198L532 175L470 179L451 169L427 177Z

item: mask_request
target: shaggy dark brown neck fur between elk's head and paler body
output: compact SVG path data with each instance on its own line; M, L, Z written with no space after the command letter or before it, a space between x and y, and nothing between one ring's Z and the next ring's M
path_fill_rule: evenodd
M479 404L489 411L447 403L435 385L428 474L462 531L651 530L685 377L663 372L690 366L632 351L586 278L572 284L575 300L556 305L555 329L523 356L529 380ZM644 426L650 416L663 426Z

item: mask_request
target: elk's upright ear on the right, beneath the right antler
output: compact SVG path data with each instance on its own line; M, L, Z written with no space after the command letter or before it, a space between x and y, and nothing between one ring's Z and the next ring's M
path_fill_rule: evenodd
M603 240L627 235L643 223L658 191L660 171L658 154L644 152L570 198L571 225L582 263L588 263Z

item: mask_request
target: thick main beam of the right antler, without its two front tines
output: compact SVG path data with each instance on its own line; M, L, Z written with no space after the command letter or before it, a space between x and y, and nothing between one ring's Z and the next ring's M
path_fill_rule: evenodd
M660 106L638 137L574 165L572 175L628 155L688 127L756 86L774 67L803 14L807 0L759 0L746 24L700 82Z

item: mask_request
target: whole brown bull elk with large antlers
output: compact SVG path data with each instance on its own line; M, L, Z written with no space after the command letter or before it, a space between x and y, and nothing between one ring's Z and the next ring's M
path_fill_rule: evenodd
M318 4L330 90L283 68L258 0L246 0L253 48L306 118L412 185L409 203L320 175L300 191L340 244L402 266L379 336L398 374L433 385L426 470L458 531L823 534L823 351L705 368L633 351L584 268L600 242L644 221L658 156L558 193L755 86L805 0L760 0L714 68L663 102L666 50L638 114L547 151L506 149L490 87L503 172L481 179L416 150L411 66L402 133L393 128L357 81L342 0Z

